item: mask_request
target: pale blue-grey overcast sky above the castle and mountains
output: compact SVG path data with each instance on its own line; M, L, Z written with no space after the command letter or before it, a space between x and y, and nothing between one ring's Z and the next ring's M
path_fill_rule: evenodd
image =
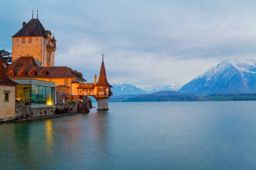
M11 51L11 36L37 7L57 39L55 65L89 82L102 48L108 81L138 87L184 85L222 60L256 59L256 1L8 0L0 49Z

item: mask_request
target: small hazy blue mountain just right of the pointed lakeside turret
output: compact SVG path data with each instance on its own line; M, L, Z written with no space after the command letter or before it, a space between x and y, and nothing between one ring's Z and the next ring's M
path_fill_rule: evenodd
M113 88L111 88L114 95L133 95L133 94L143 94L146 91L143 91L139 87L127 83L114 83Z

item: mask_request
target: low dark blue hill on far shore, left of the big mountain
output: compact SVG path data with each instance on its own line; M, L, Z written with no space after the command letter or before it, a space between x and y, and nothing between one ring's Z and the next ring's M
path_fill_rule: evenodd
M129 97L123 101L200 101L202 97L177 91L160 91L152 94Z

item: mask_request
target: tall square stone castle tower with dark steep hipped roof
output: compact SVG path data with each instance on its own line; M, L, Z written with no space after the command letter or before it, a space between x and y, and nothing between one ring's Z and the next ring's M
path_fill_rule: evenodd
M41 67L55 66L56 40L39 19L23 22L22 29L12 36L12 62L21 56L33 56Z

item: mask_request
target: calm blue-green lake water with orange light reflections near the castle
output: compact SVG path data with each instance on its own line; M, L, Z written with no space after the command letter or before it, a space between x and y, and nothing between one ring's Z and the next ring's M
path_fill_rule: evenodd
M0 124L0 169L256 169L256 101L109 105Z

